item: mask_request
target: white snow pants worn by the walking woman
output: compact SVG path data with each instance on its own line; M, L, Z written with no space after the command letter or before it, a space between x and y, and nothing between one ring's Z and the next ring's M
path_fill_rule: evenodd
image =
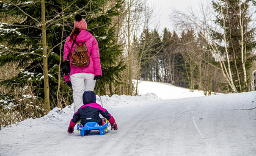
M73 89L74 113L83 105L82 94L87 90L94 90L96 80L92 73L76 73L70 76Z

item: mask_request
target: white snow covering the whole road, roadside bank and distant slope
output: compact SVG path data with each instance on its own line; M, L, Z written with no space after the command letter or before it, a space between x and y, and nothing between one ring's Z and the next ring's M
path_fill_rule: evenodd
M139 96L97 96L97 102L119 130L68 134L73 105L54 108L0 130L0 155L256 154L256 91L203 96L143 81Z

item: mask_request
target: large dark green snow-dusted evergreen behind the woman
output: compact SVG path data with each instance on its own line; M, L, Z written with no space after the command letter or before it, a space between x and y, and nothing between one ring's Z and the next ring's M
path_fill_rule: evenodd
M0 66L18 63L20 73L1 85L24 88L31 83L38 98L44 97L43 57L48 60L49 93L51 108L56 106L59 63L62 61L63 43L73 29L74 15L80 13L86 19L88 31L95 35L100 49L103 78L97 92L104 94L106 85L118 85L119 73L125 66L120 61L120 45L115 43L115 25L112 19L119 15L122 1L45 1L47 55L43 55L42 29L40 25L42 5L40 1L0 2L0 15L15 18L15 22L1 24ZM60 85L62 97L70 89ZM71 95L71 94L70 94ZM71 99L71 98L70 98Z

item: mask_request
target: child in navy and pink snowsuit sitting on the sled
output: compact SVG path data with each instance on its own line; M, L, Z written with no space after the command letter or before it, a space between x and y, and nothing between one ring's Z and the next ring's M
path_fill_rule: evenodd
M68 133L74 132L74 127L79 119L82 119L82 126L87 122L97 122L100 126L103 125L104 121L100 118L100 114L108 119L112 129L117 130L115 119L105 108L96 103L96 94L93 91L84 91L84 94L82 94L82 101L84 105L82 105L78 109L78 112L73 115L73 119L71 119L68 127Z

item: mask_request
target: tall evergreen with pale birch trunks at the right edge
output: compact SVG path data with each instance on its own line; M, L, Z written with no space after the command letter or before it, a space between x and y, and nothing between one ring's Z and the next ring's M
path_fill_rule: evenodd
M251 18L249 7L251 1L212 1L213 8L218 13L215 23L224 33L212 31L212 36L219 41L219 51L230 65L235 91L248 91L248 71L252 62L256 59L252 55L256 40L254 38L255 27L249 24ZM225 18L224 18L224 16ZM225 54L225 55L224 55ZM228 57L227 57L228 55ZM228 64L229 63L229 64ZM232 88L233 89L233 88Z

